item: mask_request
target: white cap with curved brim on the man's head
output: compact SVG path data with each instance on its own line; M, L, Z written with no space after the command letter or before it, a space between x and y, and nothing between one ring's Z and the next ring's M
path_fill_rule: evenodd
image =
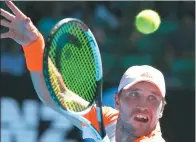
M123 88L129 88L130 86L133 86L141 81L147 81L156 85L159 88L162 96L165 97L166 89L163 74L159 70L148 65L132 66L128 68L121 78L118 92L120 92L120 90Z

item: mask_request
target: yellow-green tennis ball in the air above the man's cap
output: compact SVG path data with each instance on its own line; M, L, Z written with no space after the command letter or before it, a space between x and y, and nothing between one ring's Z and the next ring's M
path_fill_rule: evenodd
M153 10L146 9L141 11L136 16L136 28L143 34L150 34L155 32L161 23L159 14Z

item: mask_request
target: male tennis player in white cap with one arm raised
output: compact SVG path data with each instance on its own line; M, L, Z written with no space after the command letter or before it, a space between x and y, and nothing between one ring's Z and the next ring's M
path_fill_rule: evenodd
M49 95L42 73L42 57L45 47L44 39L30 18L25 16L12 2L6 1L13 14L1 9L1 25L8 27L7 33L1 33L1 38L12 38L24 50L27 68L30 71L34 88L41 101L52 109L61 113ZM62 84L62 92L66 87ZM104 125L106 133L112 142L164 142L159 119L162 117L165 106L165 81L163 74L148 65L133 66L122 76L118 92L115 94L115 107L103 107ZM82 103L82 102L81 102ZM88 120L97 127L95 106L86 114ZM69 118L68 118L69 119ZM84 138L92 135L85 128Z

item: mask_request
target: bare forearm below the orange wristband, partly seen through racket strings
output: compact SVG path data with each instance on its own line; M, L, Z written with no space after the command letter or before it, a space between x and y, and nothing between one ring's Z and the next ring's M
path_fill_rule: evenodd
M74 101L75 103L81 105L81 107L87 107L89 103L76 95L74 92L69 90L63 82L61 74L57 71L56 67L53 63L49 60L50 67L52 68L53 73L57 77L58 85L60 87L61 97L64 99L65 102ZM34 85L34 88L40 98L40 100L47 106L58 109L58 106L55 104L53 99L51 98L47 86L45 84L44 76L42 71L38 72L30 72L31 79ZM59 109L58 109L59 110Z

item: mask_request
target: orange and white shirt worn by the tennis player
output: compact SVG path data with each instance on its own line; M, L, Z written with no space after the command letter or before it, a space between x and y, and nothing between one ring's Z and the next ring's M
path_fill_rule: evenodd
M115 131L119 112L116 109L105 106L102 107L102 111L106 133L111 142L116 142ZM96 129L98 129L98 121L96 117L95 106L91 109L89 113L85 114L84 117L88 119ZM83 126L83 138L93 138L92 132L88 130L88 128L85 128L85 126ZM136 139L134 142L165 142L165 140L162 138L160 124L158 123L156 129L152 131L150 134L142 136Z

